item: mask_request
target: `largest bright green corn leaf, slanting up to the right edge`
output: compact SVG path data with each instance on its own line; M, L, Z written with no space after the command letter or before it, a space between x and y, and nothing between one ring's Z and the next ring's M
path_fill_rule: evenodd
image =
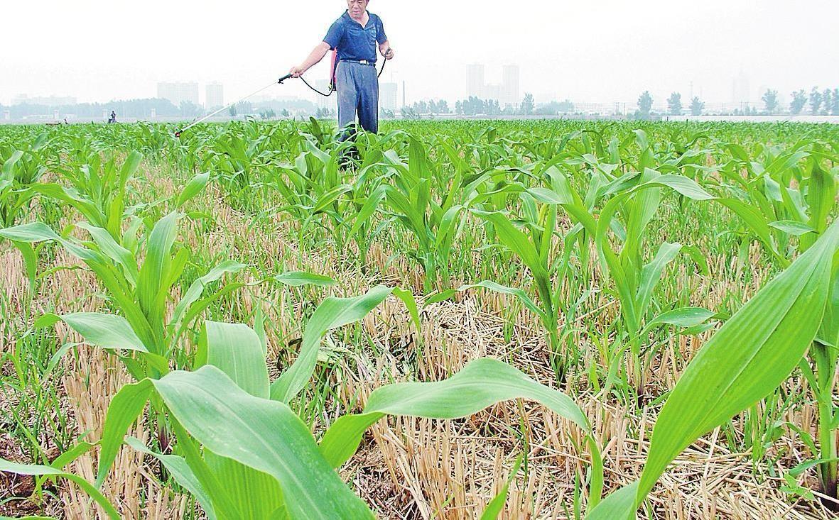
M618 498L607 498L596 507L597 515L590 518L632 515L681 450L789 376L821 326L837 247L839 222L711 337L659 413L635 499L626 500L624 488ZM603 513L607 503L610 507Z

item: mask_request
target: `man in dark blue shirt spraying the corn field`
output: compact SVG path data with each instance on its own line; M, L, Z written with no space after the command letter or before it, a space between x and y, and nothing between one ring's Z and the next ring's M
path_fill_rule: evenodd
M347 0L347 11L332 23L326 38L312 50L303 63L289 74L299 78L320 63L331 49L337 49L336 88L338 91L338 126L342 129L356 121L366 131L378 131L378 75L376 45L385 59L393 59L382 18L367 12L369 0ZM348 137L344 134L343 139Z

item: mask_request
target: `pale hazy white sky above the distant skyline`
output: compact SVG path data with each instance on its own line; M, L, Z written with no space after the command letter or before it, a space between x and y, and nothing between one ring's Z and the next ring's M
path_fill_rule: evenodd
M344 0L8 0L0 8L0 103L14 95L80 101L154 97L158 81L213 80L226 101L284 74L320 42ZM371 0L396 59L385 77L410 100L465 97L466 64L519 64L537 100L632 101L649 89L730 101L748 76L766 87L839 87L836 0ZM326 79L326 59L307 79ZM269 90L310 97L300 81Z

